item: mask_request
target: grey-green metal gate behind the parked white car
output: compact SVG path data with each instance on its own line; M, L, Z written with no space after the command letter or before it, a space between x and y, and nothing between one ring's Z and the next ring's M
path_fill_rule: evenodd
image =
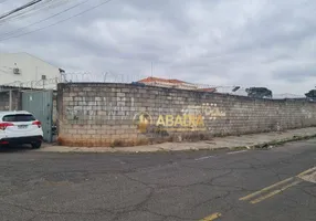
M51 143L53 138L53 91L23 92L22 109L32 113L42 123L44 141Z

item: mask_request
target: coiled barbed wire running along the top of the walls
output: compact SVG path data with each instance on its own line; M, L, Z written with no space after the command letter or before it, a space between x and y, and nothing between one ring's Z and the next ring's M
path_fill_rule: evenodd
M223 85L210 85L210 84L196 84L187 82L173 82L166 83L162 81L148 81L146 83L139 83L140 80L147 78L148 76L141 74L117 74L113 72L104 72L99 74L91 72L73 72L73 73L63 73L59 77L39 80L39 81L29 81L21 82L15 81L12 83L1 85L4 87L14 87L14 88L29 88L29 90L56 90L59 83L122 83L122 84L138 84L138 85L149 85L149 86L160 86L160 87L170 87L179 90L191 90L191 91L201 91L208 93L220 93L229 94L235 96L250 96L247 93L249 87L242 86L223 86ZM1 91L0 86L0 91ZM273 94L271 97L263 97L270 99L284 99L284 98L306 98L305 95L297 94Z

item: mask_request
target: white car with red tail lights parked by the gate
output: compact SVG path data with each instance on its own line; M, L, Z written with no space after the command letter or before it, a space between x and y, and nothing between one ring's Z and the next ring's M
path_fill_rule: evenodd
M0 146L29 144L40 148L43 129L29 112L0 112Z

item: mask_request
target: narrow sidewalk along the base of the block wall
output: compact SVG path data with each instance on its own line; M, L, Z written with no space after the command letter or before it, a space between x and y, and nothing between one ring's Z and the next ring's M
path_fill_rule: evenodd
M293 129L283 133L264 133L242 136L214 137L212 140L199 143L165 143L136 147L67 147L44 145L34 151L45 152L154 152L176 150L202 150L202 149L253 149L268 148L294 141L316 137L316 127Z

